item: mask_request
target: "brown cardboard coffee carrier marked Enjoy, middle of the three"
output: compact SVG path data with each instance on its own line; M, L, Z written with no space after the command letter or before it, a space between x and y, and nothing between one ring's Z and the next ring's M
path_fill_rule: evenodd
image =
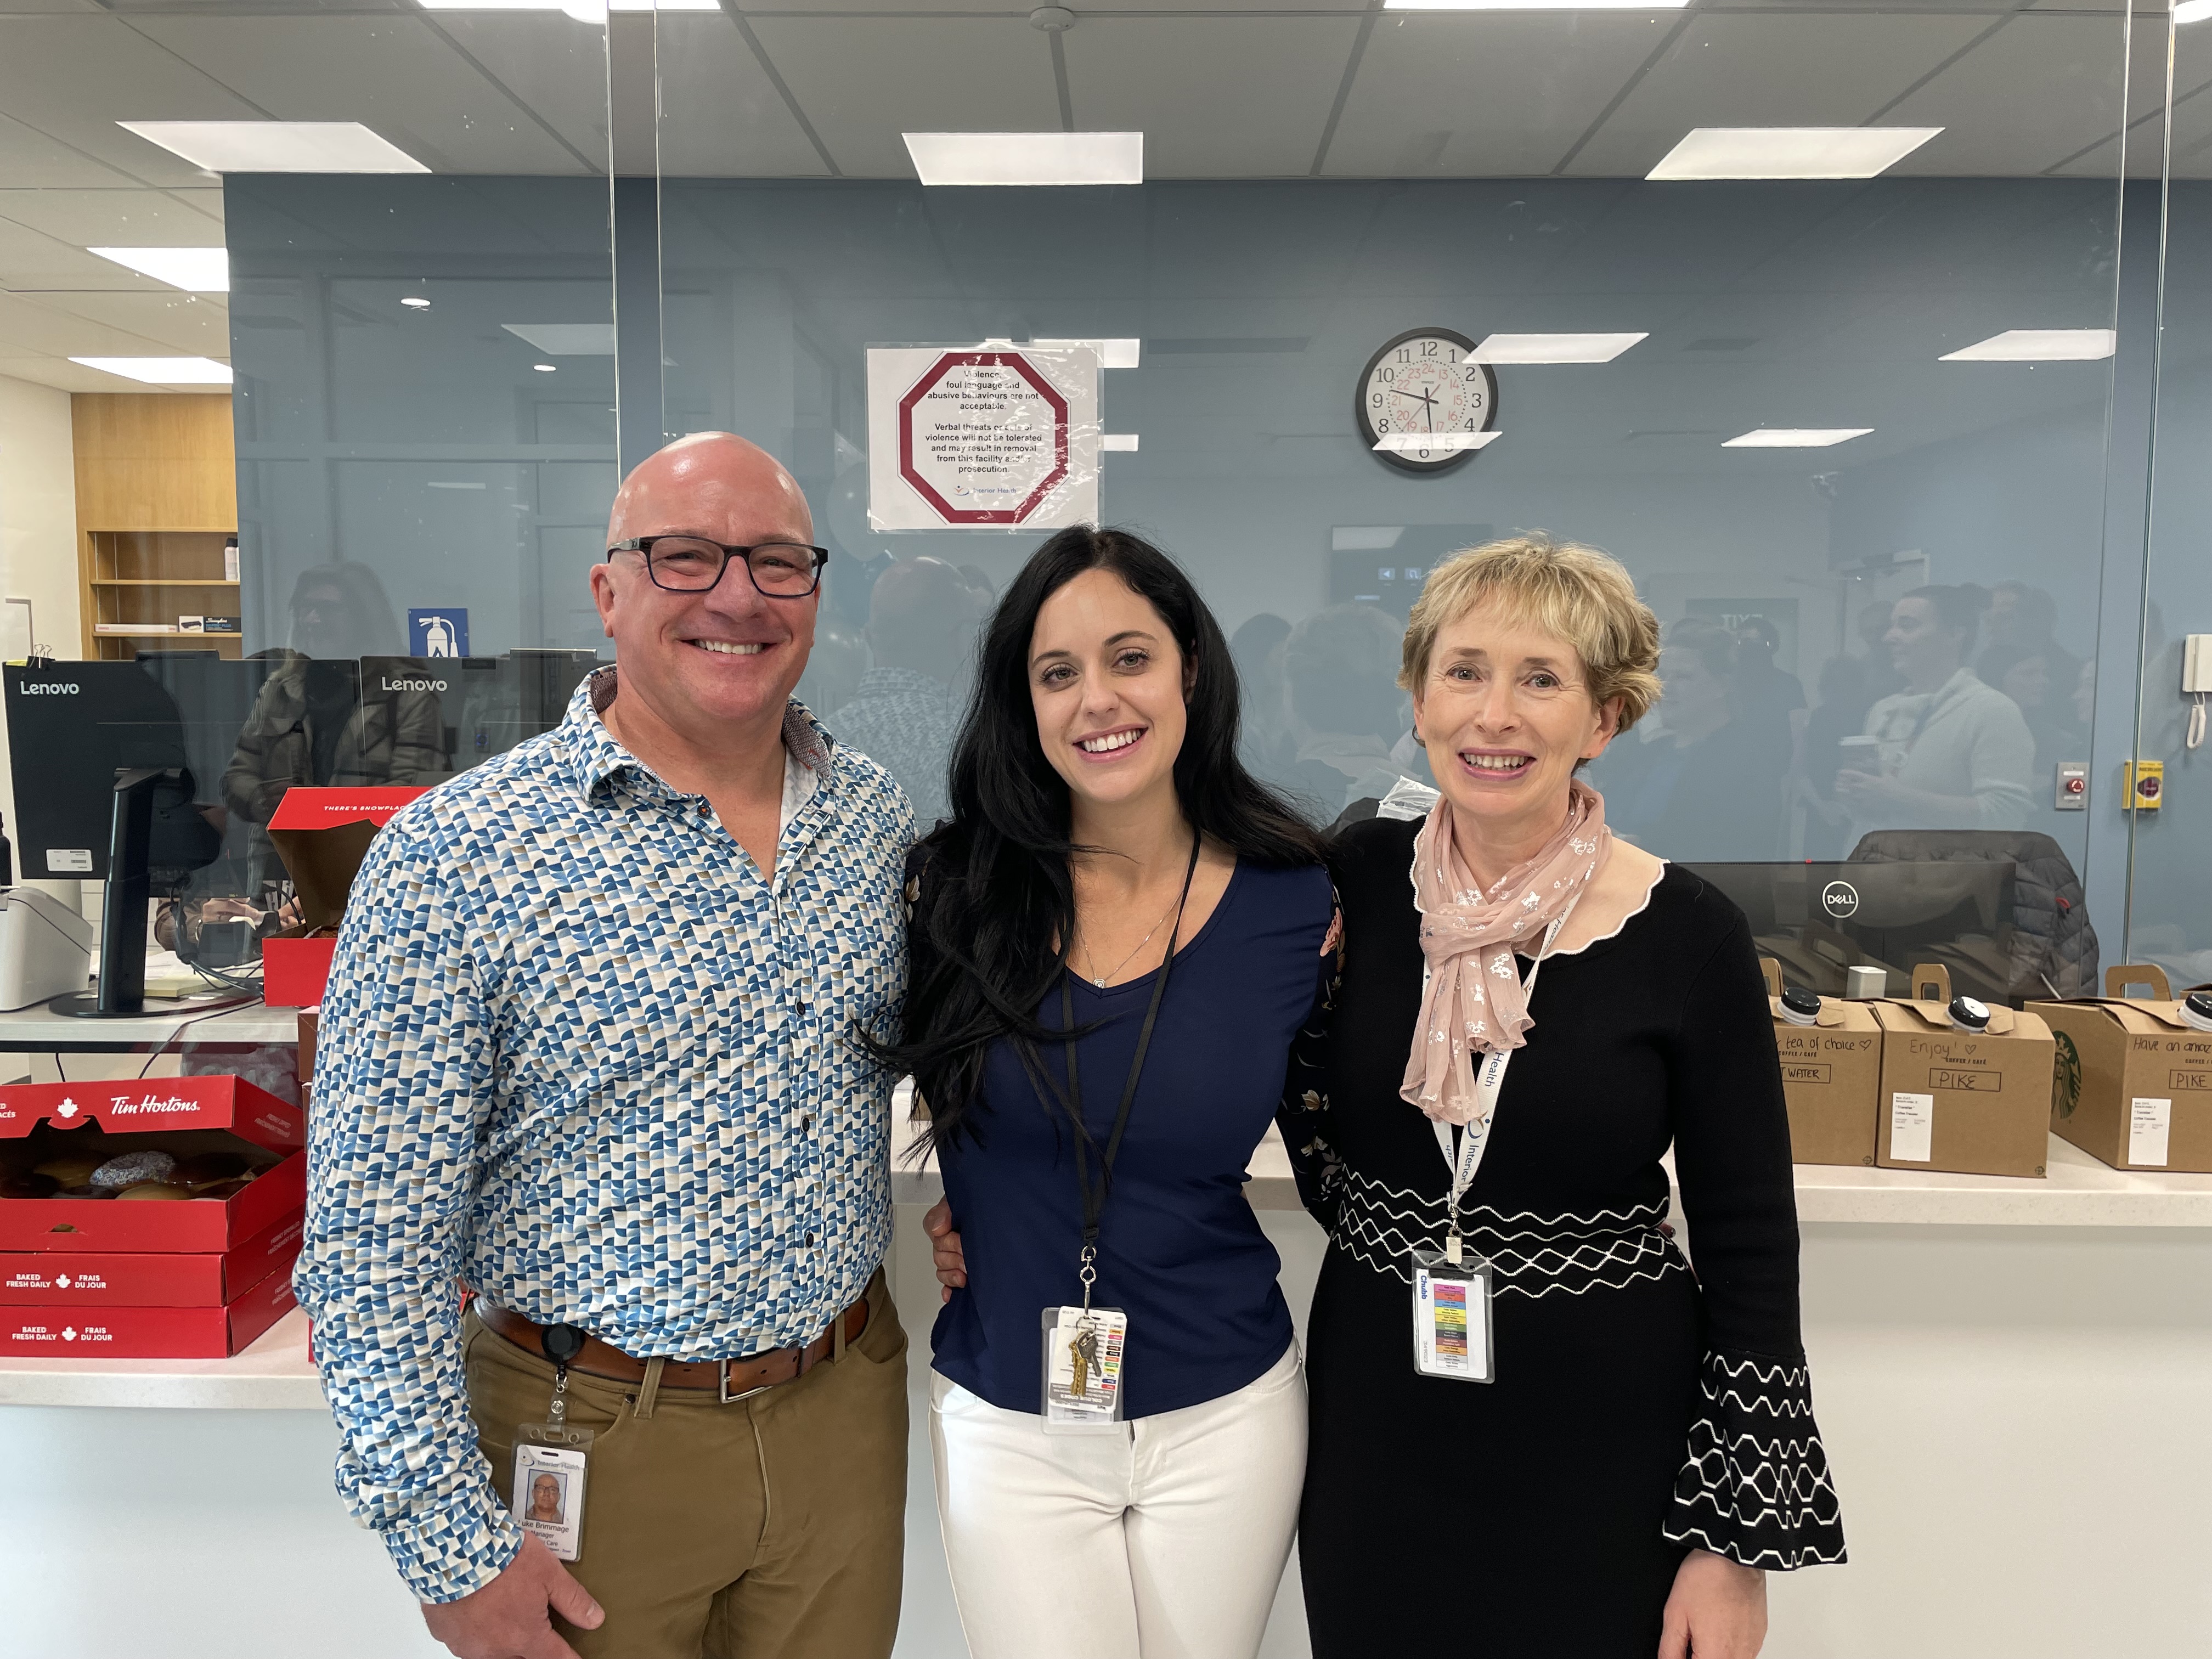
M1953 1175L2044 1172L2051 1146L2051 1026L2035 1013L1951 1000L1938 962L1913 995L1869 1004L1882 1024L1876 1164ZM1962 1031L1953 1009L1984 1020Z

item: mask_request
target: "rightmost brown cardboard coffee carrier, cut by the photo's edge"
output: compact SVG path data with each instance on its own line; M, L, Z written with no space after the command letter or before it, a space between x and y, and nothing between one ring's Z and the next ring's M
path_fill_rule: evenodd
M2143 987L2152 995L2121 995ZM2051 1133L2115 1170L2212 1172L2212 1031L2163 969L2115 967L2104 995L2028 1004L2051 1024Z

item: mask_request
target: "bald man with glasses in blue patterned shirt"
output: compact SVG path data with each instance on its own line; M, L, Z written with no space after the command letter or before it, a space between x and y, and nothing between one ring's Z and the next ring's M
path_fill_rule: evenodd
M856 1029L905 995L914 814L792 701L827 557L743 438L646 460L591 573L615 666L354 883L296 1285L338 1489L460 1659L891 1650L894 1079ZM573 1531L515 1506L549 1420L593 1436Z

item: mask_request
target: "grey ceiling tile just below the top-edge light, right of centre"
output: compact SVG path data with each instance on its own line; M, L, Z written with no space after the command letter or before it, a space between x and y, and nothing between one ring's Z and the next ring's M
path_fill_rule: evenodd
M1325 173L1551 173L1670 27L1601 11L1383 18Z

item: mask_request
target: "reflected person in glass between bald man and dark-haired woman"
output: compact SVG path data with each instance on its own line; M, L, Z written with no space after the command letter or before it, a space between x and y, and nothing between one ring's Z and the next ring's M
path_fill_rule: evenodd
M898 560L867 599L869 670L832 734L878 761L914 803L914 821L951 816L953 681L975 648L975 593L945 560Z

